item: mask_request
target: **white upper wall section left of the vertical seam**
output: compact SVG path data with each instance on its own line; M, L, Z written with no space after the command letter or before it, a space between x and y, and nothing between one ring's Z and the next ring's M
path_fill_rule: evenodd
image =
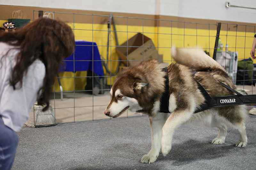
M3 5L155 15L155 0L0 0Z

